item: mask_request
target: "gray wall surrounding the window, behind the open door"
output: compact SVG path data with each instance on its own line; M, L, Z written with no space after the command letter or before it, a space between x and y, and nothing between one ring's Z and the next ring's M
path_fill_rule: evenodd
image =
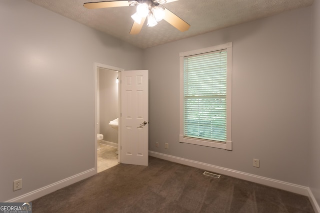
M149 150L308 186L310 12L292 10L146 49ZM179 52L230 41L233 150L181 144ZM252 167L253 158L260 168Z

